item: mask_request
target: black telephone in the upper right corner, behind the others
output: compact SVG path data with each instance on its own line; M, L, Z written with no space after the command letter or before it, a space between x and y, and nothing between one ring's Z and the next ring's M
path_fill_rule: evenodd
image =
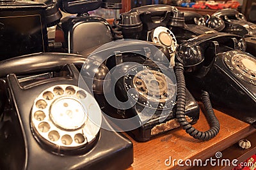
M212 14L225 22L221 32L228 32L243 36L246 41L246 52L256 56L256 24L246 21L243 13L234 9L225 9ZM215 27L212 27L215 29Z

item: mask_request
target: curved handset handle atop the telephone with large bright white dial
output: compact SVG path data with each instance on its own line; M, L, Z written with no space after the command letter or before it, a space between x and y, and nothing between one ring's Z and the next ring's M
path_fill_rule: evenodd
M28 60L29 58L29 60ZM0 78L7 74L31 74L61 69L65 64L82 66L86 57L70 53L34 53L0 62Z

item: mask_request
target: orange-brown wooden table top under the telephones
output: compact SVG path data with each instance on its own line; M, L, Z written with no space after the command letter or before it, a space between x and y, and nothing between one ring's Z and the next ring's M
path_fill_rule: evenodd
M236 118L230 117L221 113L220 111L214 110L216 117L218 117L221 125L220 133L210 141L198 141L192 138L183 129L174 129L173 131L167 132L161 136L158 136L151 141L145 143L139 143L134 141L131 137L132 143L134 144L134 163L129 167L131 169L188 169L188 167L177 166L177 161L175 166L166 166L164 164L166 159L172 157L173 159L179 160L194 160L194 159L208 159L213 157L216 152L223 151L223 157L232 155L232 153L225 152L225 148L237 143L239 139L242 139L250 134L252 138L256 139L256 129L251 125L241 122ZM207 131L209 125L207 120L200 111L200 118L198 122L194 125L196 129L200 131ZM254 132L254 134L253 134ZM256 141L252 143L253 147L250 148L252 153L256 153ZM236 144L237 145L237 144ZM238 147L238 150L243 150ZM243 150L243 154L246 150ZM253 154L254 154L253 153ZM242 153L241 153L242 154ZM234 157L235 155L233 155ZM248 157L252 155L247 155ZM236 155L235 157L240 157ZM244 157L241 161L248 157ZM169 163L169 162L167 162ZM184 164L184 162L183 162ZM210 169L211 167L207 167ZM229 167L229 169L231 169Z

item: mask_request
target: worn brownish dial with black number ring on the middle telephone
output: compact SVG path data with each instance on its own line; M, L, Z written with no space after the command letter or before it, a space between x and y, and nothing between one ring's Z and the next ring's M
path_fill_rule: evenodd
M125 89L134 88L137 94L129 94L145 106L163 109L164 103L175 105L176 85L158 69L141 66L131 69L124 78Z

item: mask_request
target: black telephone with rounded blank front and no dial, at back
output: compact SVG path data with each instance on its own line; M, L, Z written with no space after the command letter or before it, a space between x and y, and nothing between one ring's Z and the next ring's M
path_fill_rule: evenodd
M81 53L115 39L111 25L104 18L90 17L88 14L88 11L99 8L102 1L62 0L61 4L61 10L65 13L77 13L77 16L65 17L60 22L65 37L63 48L67 49L68 53ZM109 5L108 1L104 3L104 6Z

